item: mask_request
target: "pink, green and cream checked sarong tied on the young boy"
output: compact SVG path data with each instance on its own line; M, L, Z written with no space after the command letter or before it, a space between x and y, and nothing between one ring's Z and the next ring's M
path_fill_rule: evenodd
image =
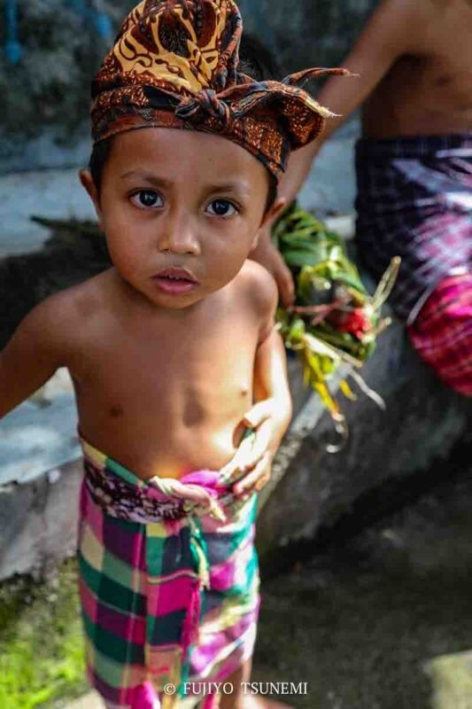
M191 700L186 682L200 691L251 657L257 495L236 500L235 480L213 471L144 481L81 442L79 585L89 682L111 705L169 709ZM182 484L204 487L213 510L176 497ZM174 694L163 693L169 684ZM205 709L215 701L205 697Z

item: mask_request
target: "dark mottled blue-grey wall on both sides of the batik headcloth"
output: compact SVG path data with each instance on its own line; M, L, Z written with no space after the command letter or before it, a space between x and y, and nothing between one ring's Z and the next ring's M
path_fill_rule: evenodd
M100 3L114 27L133 0ZM375 0L241 0L245 26L277 52L282 66L337 65ZM0 43L5 41L0 0ZM81 162L87 146L89 80L106 50L70 0L19 0L19 40L12 66L0 52L0 171ZM88 146L87 146L88 149Z

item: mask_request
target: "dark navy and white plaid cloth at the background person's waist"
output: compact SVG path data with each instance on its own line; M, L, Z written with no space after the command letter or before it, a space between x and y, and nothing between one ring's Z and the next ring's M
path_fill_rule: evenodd
M472 133L362 139L356 172L361 258L381 277L401 256L391 303L407 318L453 269L470 270Z

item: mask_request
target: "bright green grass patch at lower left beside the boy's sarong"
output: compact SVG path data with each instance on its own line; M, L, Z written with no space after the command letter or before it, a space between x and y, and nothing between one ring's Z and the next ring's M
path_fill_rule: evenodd
M55 709L86 690L75 559L0 585L0 706Z

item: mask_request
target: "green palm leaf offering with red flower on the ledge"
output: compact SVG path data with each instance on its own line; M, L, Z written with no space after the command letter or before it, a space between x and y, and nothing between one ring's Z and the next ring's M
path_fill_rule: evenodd
M290 206L273 230L275 245L295 277L297 297L290 310L280 308L277 321L286 347L303 363L306 385L320 394L337 432L347 439L347 426L328 382L340 365L346 374L340 389L355 399L347 378L380 406L383 400L360 377L362 364L375 350L375 339L389 324L381 308L398 274L400 259L392 259L375 294L369 295L359 271L349 259L344 240L297 203ZM339 450L341 446L330 446Z

